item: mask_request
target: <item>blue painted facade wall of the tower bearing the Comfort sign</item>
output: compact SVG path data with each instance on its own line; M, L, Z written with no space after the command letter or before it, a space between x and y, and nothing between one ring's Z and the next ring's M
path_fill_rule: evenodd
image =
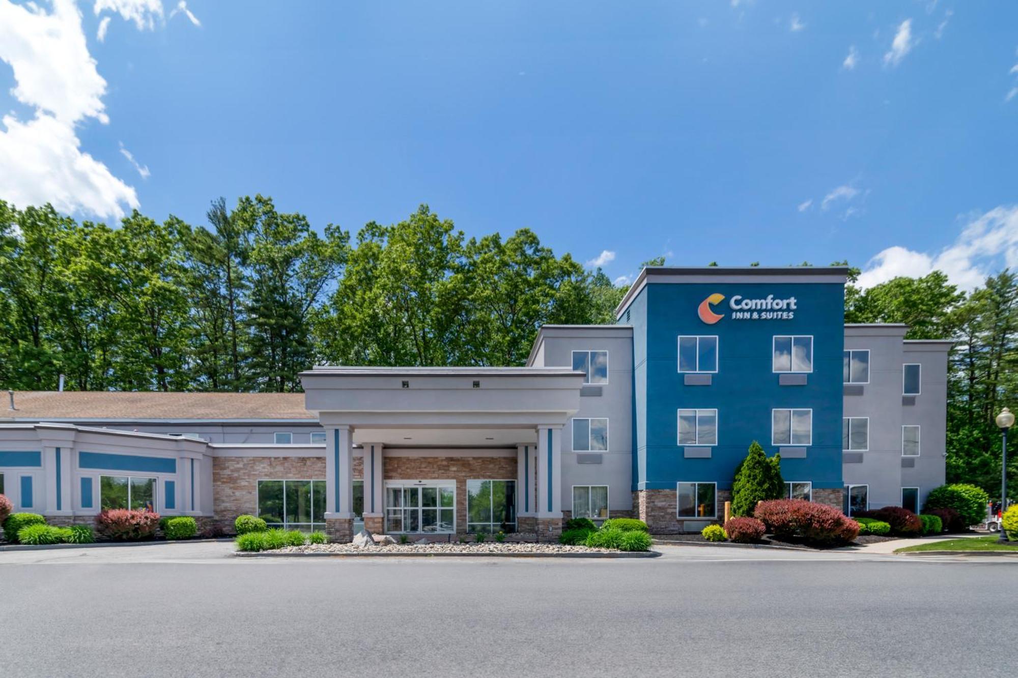
M712 294L725 295L713 307L724 314L709 325L697 307ZM729 301L744 298L796 298L791 319L741 320ZM636 300L643 299L643 304ZM675 490L678 482L713 482L730 489L736 465L752 441L769 455L773 408L811 408L812 444L805 458L782 460L786 481L809 481L814 489L842 487L842 351L844 287L837 283L710 283L646 285L630 305L636 366L636 490ZM639 316L639 318L637 318ZM644 325L644 330L636 328ZM640 337L645 332L645 357ZM680 335L719 337L718 373L710 386L686 386L678 372ZM773 372L775 335L811 335L813 371L806 384L782 386ZM717 409L718 445L710 458L685 458L678 445L680 408Z

